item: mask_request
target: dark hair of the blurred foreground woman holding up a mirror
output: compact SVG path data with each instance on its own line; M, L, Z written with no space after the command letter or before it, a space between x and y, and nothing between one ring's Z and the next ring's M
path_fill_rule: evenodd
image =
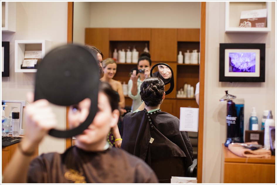
M107 82L99 82L99 92L103 92L109 100L110 106L112 111L115 109L119 110L118 102L119 102L119 95L116 91L114 91L110 84Z

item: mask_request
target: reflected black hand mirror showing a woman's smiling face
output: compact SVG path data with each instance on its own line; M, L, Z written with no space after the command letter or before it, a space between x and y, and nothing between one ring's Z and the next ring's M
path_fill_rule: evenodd
M170 87L167 91L165 91L165 94L169 94L173 91L174 75L173 70L169 65L165 63L155 64L150 70L150 76L161 78L165 85L170 83Z

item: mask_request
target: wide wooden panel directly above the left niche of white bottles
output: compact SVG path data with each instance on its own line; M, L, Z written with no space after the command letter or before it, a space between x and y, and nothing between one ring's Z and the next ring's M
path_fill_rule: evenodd
M149 41L150 28L110 28L110 41Z

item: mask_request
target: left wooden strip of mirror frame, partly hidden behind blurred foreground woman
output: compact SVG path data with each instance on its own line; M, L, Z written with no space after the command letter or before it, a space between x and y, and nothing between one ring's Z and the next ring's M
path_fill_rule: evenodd
M67 2L67 44L73 42L73 2ZM67 120L69 107L66 107L66 128L69 128L69 123ZM72 138L66 138L65 147L66 149L71 147Z

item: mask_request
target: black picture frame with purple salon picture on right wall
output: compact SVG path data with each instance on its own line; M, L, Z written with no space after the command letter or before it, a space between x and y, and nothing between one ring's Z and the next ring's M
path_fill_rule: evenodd
M220 82L265 82L265 54L266 44L260 43L220 43L219 46L219 81ZM230 70L248 70L250 62L239 63L243 59L231 59L234 53L255 53L254 72L230 71ZM227 55L228 54L228 55ZM242 56L242 55L241 55ZM234 57L235 58L235 57ZM246 58L246 57L242 57ZM237 61L233 63L232 61ZM242 65L243 64L243 65ZM248 65L248 66L247 66ZM236 66L236 67L233 67ZM253 67L251 66L251 67Z

